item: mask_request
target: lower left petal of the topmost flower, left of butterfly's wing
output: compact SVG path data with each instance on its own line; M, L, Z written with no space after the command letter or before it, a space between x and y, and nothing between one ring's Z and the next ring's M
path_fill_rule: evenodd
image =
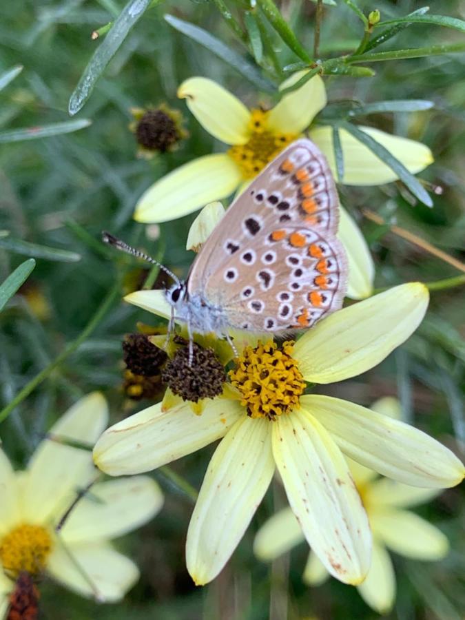
M240 169L226 153L199 157L149 187L136 205L134 219L144 223L176 220L212 200L226 198L241 179Z

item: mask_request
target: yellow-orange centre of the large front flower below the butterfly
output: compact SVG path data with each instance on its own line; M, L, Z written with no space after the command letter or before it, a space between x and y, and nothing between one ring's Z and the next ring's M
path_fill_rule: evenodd
M276 342L246 347L229 371L231 384L242 394L241 404L250 417L267 417L290 413L299 406L305 382L296 360L291 357L293 342L278 349Z

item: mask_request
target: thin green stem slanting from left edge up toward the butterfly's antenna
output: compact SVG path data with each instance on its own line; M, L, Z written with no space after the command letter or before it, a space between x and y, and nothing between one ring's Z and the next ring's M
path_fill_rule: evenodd
M81 331L81 333L76 338L76 340L73 340L72 342L70 342L70 344L68 344L65 347L65 349L63 349L60 355L55 360L53 360L53 362L50 362L50 364L48 364L48 366L46 366L43 369L43 371L41 371L38 375L36 375L34 379L30 380L30 382L27 385L25 385L23 389L19 391L19 393L17 393L17 395L5 407L5 409L0 411L0 422L3 422L3 420L6 420L8 415L10 415L10 413L13 411L13 409L15 409L15 407L17 407L21 402L23 402L25 397L30 395L30 393L34 391L34 389L36 389L37 386L39 386L46 378L48 378L48 376L54 371L54 369L56 369L72 353L74 353L76 349L79 349L79 347L84 342L84 340L87 340L87 338L89 338L92 331L94 331L94 329L97 327L99 322L101 322L101 320L103 319L107 311L112 306L116 297L118 297L119 293L120 293L120 282L118 280L118 282L116 282L114 287L112 287L112 289L110 289L110 291L107 293L107 296L101 303L101 306L97 309L94 316L90 319L90 321L87 323L83 331Z

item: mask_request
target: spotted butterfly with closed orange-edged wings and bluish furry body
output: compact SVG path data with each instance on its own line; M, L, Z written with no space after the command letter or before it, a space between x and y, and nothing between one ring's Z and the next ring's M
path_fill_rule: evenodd
M340 308L347 260L338 207L316 145L287 147L227 209L187 281L167 291L175 318L198 333L286 333Z

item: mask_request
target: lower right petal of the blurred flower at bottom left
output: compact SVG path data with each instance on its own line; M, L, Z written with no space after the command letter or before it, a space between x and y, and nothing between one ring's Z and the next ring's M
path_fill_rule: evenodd
M57 544L47 569L66 588L99 602L119 601L139 577L128 557L109 544L95 542L70 545L66 550Z

